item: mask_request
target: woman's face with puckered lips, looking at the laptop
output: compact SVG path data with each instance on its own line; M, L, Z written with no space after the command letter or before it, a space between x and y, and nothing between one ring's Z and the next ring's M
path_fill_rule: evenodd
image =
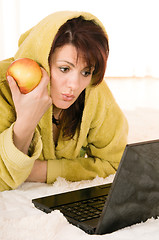
M94 67L88 67L81 54L77 57L71 44L55 49L50 66L53 104L58 109L67 109L91 82Z

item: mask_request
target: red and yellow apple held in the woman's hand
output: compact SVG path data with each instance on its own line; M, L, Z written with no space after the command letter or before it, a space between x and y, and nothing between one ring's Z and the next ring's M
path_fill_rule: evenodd
M42 71L38 63L30 58L19 58L7 69L7 76L17 82L21 93L31 92L40 82Z

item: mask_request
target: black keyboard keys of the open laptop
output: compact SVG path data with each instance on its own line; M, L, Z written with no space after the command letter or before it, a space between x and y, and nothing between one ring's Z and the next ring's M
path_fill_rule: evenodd
M95 197L80 202L58 206L53 210L60 210L66 217L83 222L100 217L106 198L107 195Z

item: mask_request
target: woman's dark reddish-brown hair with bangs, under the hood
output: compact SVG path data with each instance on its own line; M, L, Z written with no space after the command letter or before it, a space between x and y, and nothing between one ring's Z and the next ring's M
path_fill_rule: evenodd
M85 20L82 16L73 18L64 23L58 30L49 55L50 58L56 48L65 44L76 47L77 53L82 53L88 67L94 65L92 85L99 84L104 77L109 55L109 43L106 33L93 20ZM72 138L81 123L84 109L85 90L78 99L68 108L63 110L61 125L63 137Z

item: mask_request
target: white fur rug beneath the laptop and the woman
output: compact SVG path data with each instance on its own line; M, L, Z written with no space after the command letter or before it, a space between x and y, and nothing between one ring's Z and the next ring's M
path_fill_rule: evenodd
M138 108L125 111L129 122L128 142L157 139L159 136L159 110ZM31 200L36 197L75 190L112 182L97 177L92 181L68 182L58 178L54 184L24 183L16 190L0 193L0 240L158 240L159 220L149 219L111 234L88 235L69 224L66 218L54 211L45 214L37 210Z

